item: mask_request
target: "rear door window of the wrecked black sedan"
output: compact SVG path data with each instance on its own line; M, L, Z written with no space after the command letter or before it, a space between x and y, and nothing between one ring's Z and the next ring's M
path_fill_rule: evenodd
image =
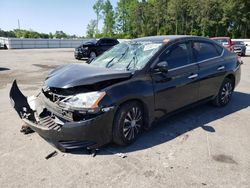
M219 56L216 47L209 42L195 41L192 45L195 62Z

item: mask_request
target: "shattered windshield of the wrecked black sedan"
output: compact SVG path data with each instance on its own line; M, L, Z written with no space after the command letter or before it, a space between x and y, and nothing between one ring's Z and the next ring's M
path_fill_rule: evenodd
M91 62L91 65L117 70L140 70L160 49L162 43L120 43Z

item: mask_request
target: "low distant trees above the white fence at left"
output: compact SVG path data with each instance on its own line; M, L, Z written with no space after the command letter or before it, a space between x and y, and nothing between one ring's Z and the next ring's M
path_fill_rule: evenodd
M68 35L63 31L56 31L55 33L39 33L33 30L14 29L12 31L4 31L0 29L0 37L15 37L15 38L42 38L42 39L72 39L78 38L76 35Z

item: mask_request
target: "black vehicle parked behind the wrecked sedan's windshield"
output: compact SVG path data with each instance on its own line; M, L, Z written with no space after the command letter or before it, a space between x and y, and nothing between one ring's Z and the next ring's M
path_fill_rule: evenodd
M101 38L98 41L86 42L75 48L75 58L95 58L118 43L118 40L113 38Z

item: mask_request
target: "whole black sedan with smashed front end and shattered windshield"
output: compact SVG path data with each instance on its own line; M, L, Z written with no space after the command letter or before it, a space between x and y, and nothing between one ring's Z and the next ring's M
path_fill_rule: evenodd
M229 103L240 81L237 55L203 37L157 36L121 43L90 64L53 70L26 98L14 81L20 118L65 151L128 145L153 122L187 107Z

